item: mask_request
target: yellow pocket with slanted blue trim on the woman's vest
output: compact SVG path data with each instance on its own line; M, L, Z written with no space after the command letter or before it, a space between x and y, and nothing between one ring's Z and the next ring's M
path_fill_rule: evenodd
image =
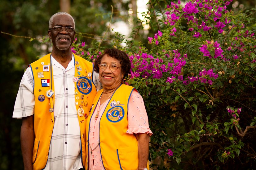
M137 170L139 164L137 147L126 147L117 149L117 157L120 169Z

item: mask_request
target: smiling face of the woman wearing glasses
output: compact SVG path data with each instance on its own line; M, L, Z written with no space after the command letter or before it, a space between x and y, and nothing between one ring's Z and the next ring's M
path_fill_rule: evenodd
M105 54L102 57L100 64L108 65L105 70L99 69L99 79L102 83L103 88L111 90L119 87L122 81L122 77L124 76L124 74L122 74L120 61ZM119 68L117 68L117 70L115 71L112 71L109 68L110 65L116 65Z

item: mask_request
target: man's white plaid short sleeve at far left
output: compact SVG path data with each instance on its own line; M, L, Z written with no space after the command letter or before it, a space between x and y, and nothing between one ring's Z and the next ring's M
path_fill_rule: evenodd
M21 81L20 88L16 97L13 118L23 118L34 114L35 96L34 96L34 79L31 68L27 68Z

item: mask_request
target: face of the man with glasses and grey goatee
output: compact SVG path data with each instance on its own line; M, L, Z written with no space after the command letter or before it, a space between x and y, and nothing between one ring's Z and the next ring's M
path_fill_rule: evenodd
M72 18L68 15L58 15L53 19L54 26L61 27L74 27ZM67 50L73 43L76 32L68 33L63 29L61 32L55 32L53 29L48 30L48 35L52 40L53 51L55 50Z

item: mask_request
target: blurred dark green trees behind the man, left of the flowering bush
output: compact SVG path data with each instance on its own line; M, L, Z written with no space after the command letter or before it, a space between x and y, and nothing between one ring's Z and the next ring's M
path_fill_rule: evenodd
M38 57L51 52L51 42L47 38L50 17L59 11L70 13L76 22L76 37L90 47L91 44L99 43L103 39L113 6L111 25L101 46L112 47L111 42L115 39L112 28L119 24L123 29L128 30L127 37L134 38L134 45L141 42L150 48L147 37L152 37L161 26L154 25L148 20L148 30L141 29L146 25L142 25L142 21L136 15L137 4L140 2L139 0L1 0L0 160L2 161L0 169L23 169L20 149L21 120L12 118L12 112L24 69ZM255 7L256 2L241 0L232 3L233 10L238 12L241 9ZM164 11L166 7L164 6L166 2L161 1L159 4L161 5L148 6L149 11L154 14L151 20L157 20L157 16L162 15L161 10ZM36 39L45 41L42 43Z

